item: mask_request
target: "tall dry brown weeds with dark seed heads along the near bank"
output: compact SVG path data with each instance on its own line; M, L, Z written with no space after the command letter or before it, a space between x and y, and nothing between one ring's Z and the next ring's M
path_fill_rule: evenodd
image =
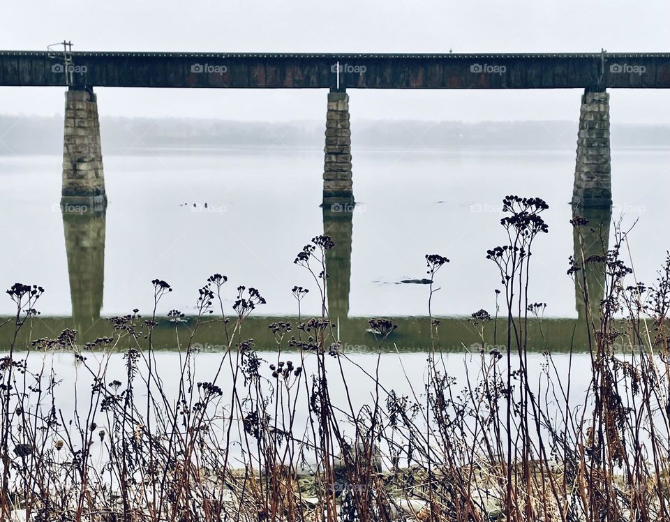
M43 289L13 285L15 317L1 326L13 329L0 359L3 519L670 520L670 255L657 281L643 285L623 261L629 232L616 226L613 247L593 254L585 241L597 230L576 213L579 249L568 275L587 311L588 364L570 351L565 371L545 352L534 371L527 325L541 320L546 305L528 295L548 207L516 196L503 206L503 241L486 254L501 290L493 315L480 310L470 318L482 350L469 355L465 378L451 375L440 323L429 317L424 381L405 382L410 392L401 394L397 375L379 373L380 351L374 371L359 368L357 378L364 375L373 390L362 406L345 370L356 363L328 318L329 237L313 238L295 259L313 277L322 313L269 325L273 361L260 357L244 330L265 299L239 286L226 313L230 292L220 274L199 289L188 328L177 310L156 315L171 291L156 279L148 317L110 318L110 336L85 345L66 330L34 340L28 352L16 339L38 314ZM448 261L426 255L429 315L442 284L437 272ZM307 291L293 288L298 306ZM159 321L174 325L176 370L156 359L151 339ZM209 321L225 325L226 348L205 381L193 339ZM379 347L392 343L392 320L370 325ZM491 328L496 348L485 352ZM45 362L54 350L72 352L90 387L82 392L79 383L59 380ZM119 353L122 372L110 364ZM590 375L587 389L572 385L576 373ZM344 391L334 393L334 385ZM62 389L72 390L74 411L61 406Z

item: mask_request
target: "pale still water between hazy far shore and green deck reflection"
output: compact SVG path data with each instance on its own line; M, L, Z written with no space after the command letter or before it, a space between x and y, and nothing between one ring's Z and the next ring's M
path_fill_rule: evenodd
M229 278L228 306L234 288L246 285L267 299L258 315L296 315L290 289L303 285L313 290L303 312L319 313L314 283L293 260L324 230L322 161L318 151L107 154L104 271L101 262L94 262L104 274L101 315L133 308L149 313L153 278L174 288L160 313L172 308L193 313L198 288L216 272ZM630 244L636 279L648 283L670 246L669 165L667 149L612 154L613 218L623 214L625 225L639 218ZM566 275L573 253L574 152L357 151L353 168L358 204L349 229L350 317L426 315L428 288L398 284L425 276L426 253L451 260L438 274L442 290L433 298L435 315L492 311L500 281L485 256L505 239L499 220L507 194L549 203L544 214L549 234L535 243L530 300L546 301L548 316L576 317L574 285ZM46 292L38 308L43 315L70 315L66 231L59 209L61 158L0 156L0 184L0 285L42 285ZM97 237L99 230L78 244ZM76 248L70 246L73 260ZM79 264L86 267L91 260ZM12 305L0 299L0 315L12 313Z

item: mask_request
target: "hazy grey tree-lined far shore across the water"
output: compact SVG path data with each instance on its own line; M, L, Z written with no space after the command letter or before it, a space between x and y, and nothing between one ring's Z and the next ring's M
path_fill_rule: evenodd
M227 121L217 119L148 119L102 117L105 154L135 150L184 152L260 147L263 150L320 151L323 121ZM576 121L459 121L360 120L352 122L352 142L359 151L467 151L514 149L574 151ZM61 154L61 116L0 115L0 156ZM612 124L613 149L670 147L670 126Z

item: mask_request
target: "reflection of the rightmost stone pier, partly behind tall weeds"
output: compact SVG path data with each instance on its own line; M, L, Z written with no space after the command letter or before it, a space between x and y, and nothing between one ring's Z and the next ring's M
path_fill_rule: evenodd
M588 223L573 227L574 260L583 272L574 275L574 297L577 318L580 321L591 318L595 325L600 323L600 301L605 295L605 264L604 262L588 262L591 256L604 256L609 249L609 226L612 219L611 207L573 207L573 218L583 217ZM584 302L584 282L588 295L588 313Z

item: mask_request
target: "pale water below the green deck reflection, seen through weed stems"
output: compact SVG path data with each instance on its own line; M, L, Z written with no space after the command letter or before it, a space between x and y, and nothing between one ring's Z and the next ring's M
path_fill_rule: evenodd
M59 378L59 385L53 389L54 402L58 405L59 412L64 416L65 422L70 420L75 421L77 417L82 420L82 412L87 412L89 402L91 401L91 385L94 380L92 375L104 375L103 382L111 382L112 379L118 379L124 385L127 381L126 359L123 354L116 353L102 353L88 352L86 357L86 367L75 361L71 353L40 353L33 351L29 355L24 353L19 357L25 357L27 365L31 371L36 373L43 368L43 375L46 376L53 371L54 375ZM177 357L175 353L156 352L154 353L154 362L157 375L161 377L161 389L172 403L176 401L179 396L179 378L175 378L179 374L177 368L182 363L182 358ZM217 385L221 387L223 395L220 399L215 400L209 407L209 412L220 412L222 415L213 415L211 424L208 424L208 435L223 447L225 445L225 415L230 415L231 411L231 393L233 389L233 380L230 378L229 361L222 361L221 354L215 353L198 353L193 356L191 378L193 382L211 382L214 380L216 371L220 365L223 367L222 375L219 375L216 380ZM233 356L234 357L234 356ZM316 375L316 357L311 352L303 352L301 354L296 352L282 352L279 355L277 352L263 352L262 364L260 366L260 389L266 397L274 396L276 389L276 380L271 377L270 363L277 363L278 360L286 361L292 360L296 365L304 368L304 374ZM488 356L485 359L489 359ZM528 375L530 382L542 382L545 385L547 380L546 372L543 365L548 359L543 355L534 353L528 355ZM553 371L549 372L551 381L556 384L560 379L563 386L569 387L571 393L567 399L568 410L574 415L574 419L578 421L582 412L586 411L587 418L590 413L590 401L585 401L585 393L590 385L590 372L583 371L585 366L589 364L589 357L585 354L576 354L571 357L566 354L558 354L552 357ZM325 357L325 368L329 375L328 387L330 397L332 398L332 405L334 407L334 416L338 420L339 429L345 438L353 439L356 436L355 428L350 423L348 415L353 410L354 412L365 411L366 405L375 403L375 398L380 397L380 403L385 403L387 394L393 391L397 396L406 396L410 403L422 403L425 398L424 383L429 382L428 371L426 369L426 354L424 353L403 353L401 355L385 354L378 357L375 354L348 354L345 357L334 359L332 357ZM340 366L341 364L341 371ZM488 364L488 361L487 361ZM138 364L140 371L135 378L135 392L133 398L138 411L144 412L147 407L147 392L146 385L142 382L142 375L146 375L145 363L140 361ZM504 362L500 361L498 368L502 368ZM482 371L482 358L479 355L465 355L460 353L442 354L436 359L436 368L440 370L445 368L449 375L456 380L454 385L454 393L461 392L461 387L466 382L466 375L470 382L479 382L484 379L484 372ZM91 375L92 372L92 375ZM490 372L490 368L489 368ZM345 379L341 378L345 375ZM379 381L375 380L374 376L379 375ZM490 373L488 378L491 378ZM246 385L241 384L242 379L237 383L237 393L240 397L246 396ZM346 381L346 384L345 384ZM29 381L30 382L30 381ZM155 389L155 387L154 387ZM311 424L309 422L310 401L308 392L304 385L304 380L290 381L290 396L292 401L287 401L284 396L283 401L278 402L277 412L274 410L274 403L267 407L267 413L278 422L281 428L282 420L285 419L285 426L291 424L292 433L297 440L311 440ZM76 390L76 393L74 393ZM195 392L196 396L199 392ZM285 393L285 392L284 392ZM95 402L95 399L93 399ZM294 402L295 401L295 402ZM540 401L542 408L546 408L551 417L558 422L562 418L563 412L556 410L556 404L549 400L549 405L545 405L544 398ZM587 407L585 407L585 402ZM250 402L251 404L253 402ZM484 403L482 403L484 404ZM294 410L295 406L295 410ZM51 407L49 400L43 401L43 410L48 410ZM245 408L248 404L245 403ZM502 406L501 406L502 407ZM504 408L504 407L502 407ZM94 408L95 409L95 408ZM486 408L482 409L482 415ZM84 414L85 415L85 414ZM313 414L312 414L313 415ZM504 416L504 412L501 414ZM366 417L365 414L362 417ZM466 415L467 417L467 415ZM290 419L290 422L289 420ZM415 418L416 425L426 426L422 420L422 415L419 414ZM468 419L470 422L470 419ZM579 421L578 421L579 422ZM101 429L109 431L107 418L105 415L98 414L96 416L96 423ZM67 424L65 424L67 425ZM387 427L387 433L389 433ZM398 443L399 433L395 434L395 442ZM546 433L544 433L547 436ZM38 434L38 436L40 436ZM76 431L72 433L75 447L80 444L80 435ZM244 458L241 454L242 442L241 434L237 428L233 428L231 432L232 445L228 448L232 458L232 466L234 468L241 468L244 466ZM52 445L52 440L48 440L47 445ZM382 465L389 468L390 460L388 458L389 449L385 440L376 442L380 448L382 456ZM439 446L439 445L438 445ZM255 453L255 443L251 440L251 447ZM439 454L439 447L435 447L435 451ZM98 442L97 437L93 438L93 445L91 446L91 465L96 468L101 468L107 462L108 454L101 442ZM249 458L248 456L246 457ZM313 454L306 452L306 459L308 463L314 463Z

